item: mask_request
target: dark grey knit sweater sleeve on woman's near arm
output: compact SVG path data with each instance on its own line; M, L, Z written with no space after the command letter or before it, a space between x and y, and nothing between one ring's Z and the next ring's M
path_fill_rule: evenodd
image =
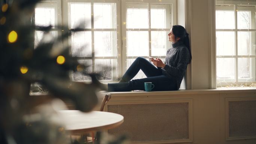
M165 71L167 71L168 74L172 76L180 76L180 74L183 74L189 62L190 55L186 47L181 48L177 56L179 56L179 59L177 59L177 67L165 65L163 68Z

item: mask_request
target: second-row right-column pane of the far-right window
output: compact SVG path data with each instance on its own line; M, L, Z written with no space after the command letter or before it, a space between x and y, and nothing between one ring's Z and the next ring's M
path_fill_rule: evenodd
M238 55L255 55L255 32L237 32Z

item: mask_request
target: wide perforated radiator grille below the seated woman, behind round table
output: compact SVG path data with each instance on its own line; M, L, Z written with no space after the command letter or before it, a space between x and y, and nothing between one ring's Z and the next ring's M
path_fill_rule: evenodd
M107 105L124 116L122 125L108 130L113 138L126 134L131 142L189 139L189 102Z

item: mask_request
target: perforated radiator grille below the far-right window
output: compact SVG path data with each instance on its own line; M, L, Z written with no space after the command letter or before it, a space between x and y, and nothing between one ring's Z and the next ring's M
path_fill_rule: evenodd
M229 138L256 136L256 100L229 101Z

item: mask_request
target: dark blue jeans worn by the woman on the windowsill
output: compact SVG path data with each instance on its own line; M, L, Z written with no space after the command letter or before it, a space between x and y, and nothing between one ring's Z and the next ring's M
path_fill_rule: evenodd
M144 79L131 80L139 70L147 76ZM152 91L174 91L177 90L177 81L173 78L164 76L161 68L156 68L147 59L138 57L131 64L119 83L109 83L108 91L122 92L132 90L145 90L144 82L152 82L155 87Z

